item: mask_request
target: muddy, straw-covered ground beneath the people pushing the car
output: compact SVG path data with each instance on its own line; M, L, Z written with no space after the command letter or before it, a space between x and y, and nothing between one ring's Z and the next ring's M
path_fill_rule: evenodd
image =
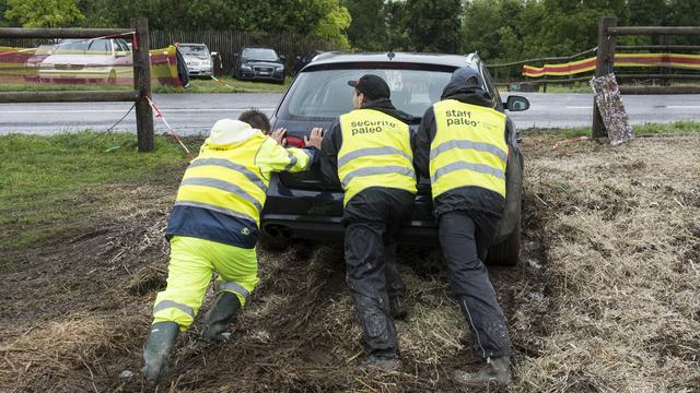
M590 142L525 136L523 247L490 269L514 344L517 392L673 391L700 385L700 138ZM140 377L165 283L173 180L88 190L101 225L0 267L0 391L467 391L475 368L439 253L401 250L408 321L399 371L355 367L360 327L338 245L259 252L261 283L233 340L180 336L159 386ZM491 389L490 391L499 391Z

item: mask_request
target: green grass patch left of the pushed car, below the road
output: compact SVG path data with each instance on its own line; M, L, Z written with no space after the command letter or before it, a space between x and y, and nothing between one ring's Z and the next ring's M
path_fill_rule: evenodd
M122 133L0 136L0 251L94 224L90 195L101 186L177 182L187 157L165 136L155 145L138 153L136 135Z

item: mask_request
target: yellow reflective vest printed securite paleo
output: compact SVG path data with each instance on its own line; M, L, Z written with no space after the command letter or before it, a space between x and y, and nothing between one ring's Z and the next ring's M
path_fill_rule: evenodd
M346 192L343 204L370 187L416 193L408 124L378 110L355 109L340 116L340 130L338 178Z

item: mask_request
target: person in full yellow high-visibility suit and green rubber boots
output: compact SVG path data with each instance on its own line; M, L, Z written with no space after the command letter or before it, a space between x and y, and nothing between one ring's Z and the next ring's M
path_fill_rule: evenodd
M320 147L320 129L312 130L308 147L284 148L285 131L270 138L264 114L250 110L240 119L245 122L217 121L179 184L165 230L167 287L155 298L143 349L143 373L151 382L162 374L178 333L194 322L214 272L218 296L201 337L226 338L226 323L258 283L255 245L270 172L306 170Z

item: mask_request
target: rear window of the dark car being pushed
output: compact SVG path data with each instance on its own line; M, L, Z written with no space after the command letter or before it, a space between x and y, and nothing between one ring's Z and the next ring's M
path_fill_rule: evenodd
M440 99L451 72L401 69L342 69L302 72L284 97L278 117L289 120L332 120L352 110L353 87L348 81L364 74L384 79L392 103L405 112L422 117Z

